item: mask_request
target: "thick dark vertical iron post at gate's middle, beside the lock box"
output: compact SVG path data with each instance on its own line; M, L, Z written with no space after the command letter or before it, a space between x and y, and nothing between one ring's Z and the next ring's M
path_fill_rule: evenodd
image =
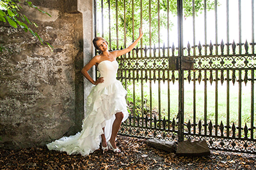
M179 44L179 132L178 141L184 141L184 73L182 70L183 56L183 6L182 0L177 0L177 17L178 17L178 44Z

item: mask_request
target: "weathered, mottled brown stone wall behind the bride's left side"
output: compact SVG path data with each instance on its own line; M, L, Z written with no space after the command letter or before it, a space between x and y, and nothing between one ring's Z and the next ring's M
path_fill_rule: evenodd
M0 147L45 145L81 130L84 117L83 16L76 1L34 0L48 17L24 5L53 52L22 29L0 22Z

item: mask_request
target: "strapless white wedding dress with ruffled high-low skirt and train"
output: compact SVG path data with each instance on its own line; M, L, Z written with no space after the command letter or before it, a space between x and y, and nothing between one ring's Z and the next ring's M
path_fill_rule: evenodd
M112 125L115 120L115 113L124 113L124 122L128 117L125 95L127 91L122 83L116 80L118 62L104 60L97 68L100 77L104 78L104 83L99 83L92 88L86 104L86 117L83 120L82 131L74 136L63 137L47 147L49 150L67 152L68 155L80 153L83 156L89 155L99 149L103 134L107 141L111 137Z

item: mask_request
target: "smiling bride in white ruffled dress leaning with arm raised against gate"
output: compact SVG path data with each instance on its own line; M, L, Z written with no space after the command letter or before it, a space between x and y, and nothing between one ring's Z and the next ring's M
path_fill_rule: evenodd
M93 57L81 71L87 80L95 85L87 98L82 131L74 136L64 136L49 143L47 145L49 150L67 152L68 155L80 153L86 156L99 149L101 142L103 153L108 150L121 152L116 147L116 136L121 123L128 117L125 101L127 91L122 87L122 83L116 80L118 69L116 57L131 52L142 36L143 32L140 28L140 36L136 41L124 50L113 52L108 51L108 42L105 39L100 37L93 39L93 45L101 53ZM88 74L92 66L97 66L100 71L100 78L96 81Z

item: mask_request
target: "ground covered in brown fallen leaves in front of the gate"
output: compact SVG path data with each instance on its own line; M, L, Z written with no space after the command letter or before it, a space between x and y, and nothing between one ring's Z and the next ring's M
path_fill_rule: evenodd
M118 136L122 153L96 150L87 157L46 146L0 148L0 169L256 169L256 155L211 150L205 157L180 157L148 146L145 139Z

